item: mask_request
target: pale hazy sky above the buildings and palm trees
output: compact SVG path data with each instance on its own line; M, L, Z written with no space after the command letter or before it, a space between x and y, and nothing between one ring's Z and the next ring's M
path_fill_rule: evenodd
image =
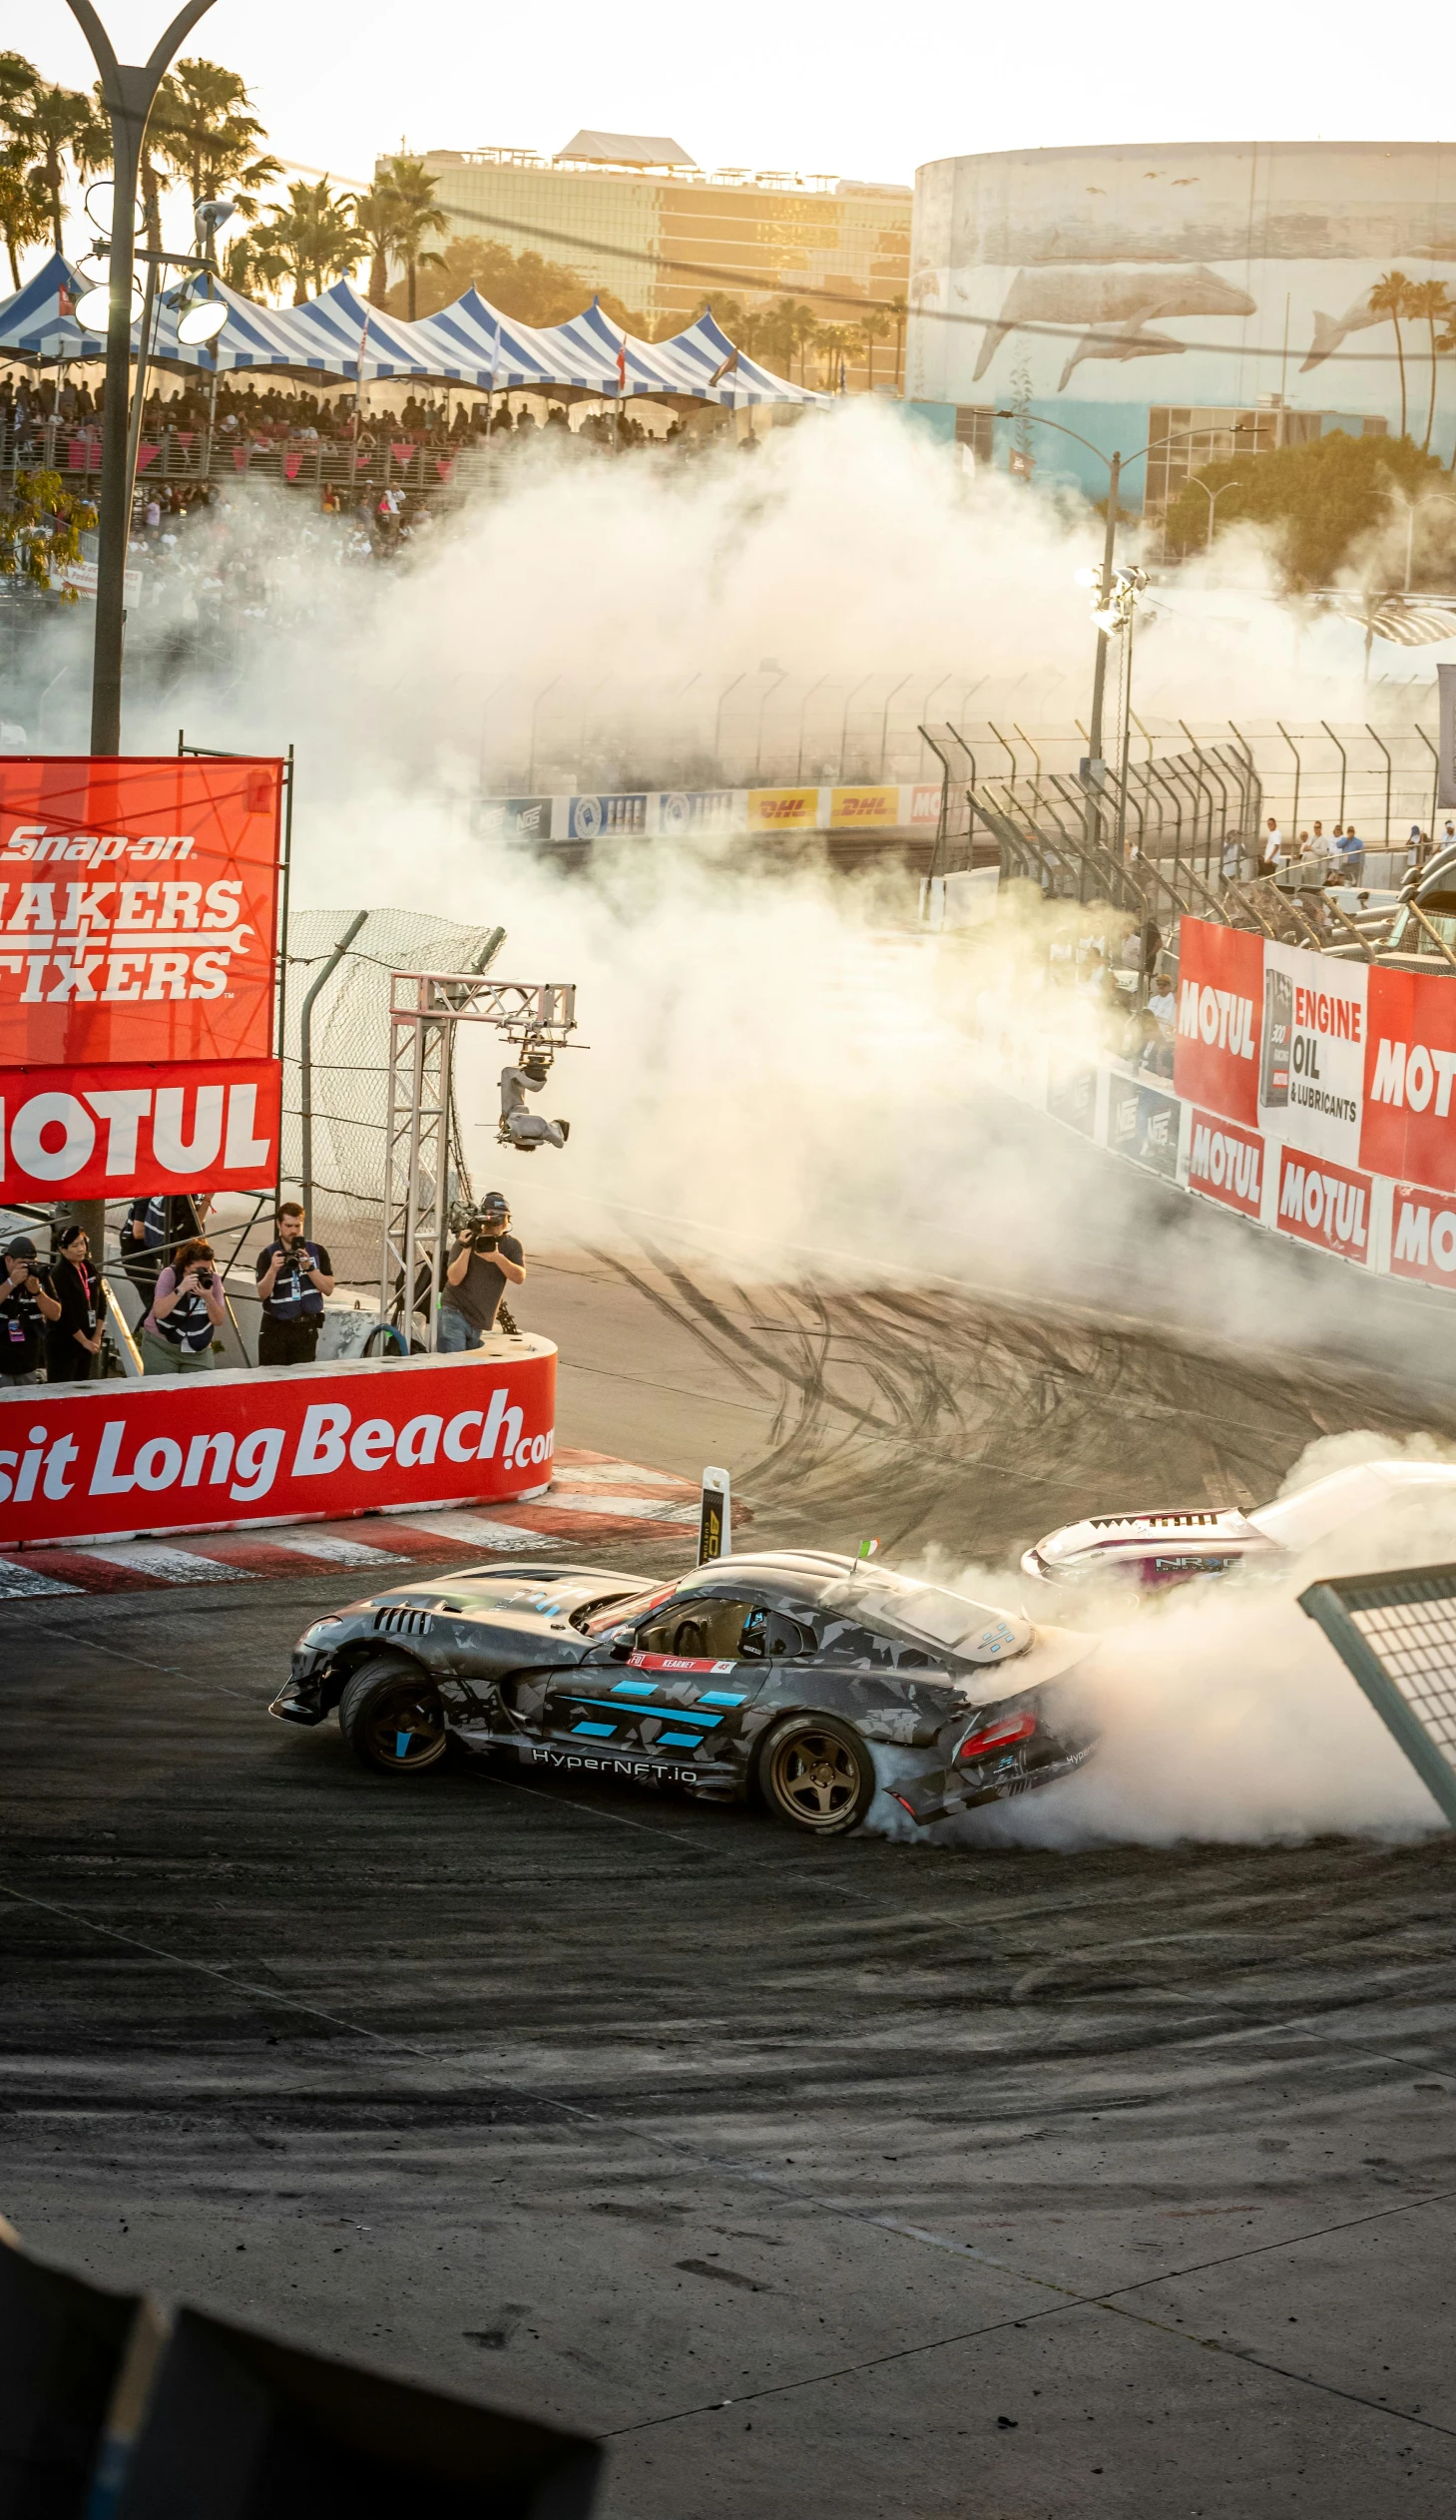
M166 0L101 0L144 58ZM1448 15L1416 0L1398 45L1370 13L1292 0L1219 25L1131 0L1043 0L1035 18L922 0L912 18L849 0L773 10L557 0L481 8L383 0L214 0L189 53L242 71L277 156L368 176L378 149L559 149L582 123L670 134L700 166L788 166L899 184L935 156L1066 141L1446 139ZM1111 38L1111 40L1108 40ZM53 78L91 78L65 0L33 0L8 43Z

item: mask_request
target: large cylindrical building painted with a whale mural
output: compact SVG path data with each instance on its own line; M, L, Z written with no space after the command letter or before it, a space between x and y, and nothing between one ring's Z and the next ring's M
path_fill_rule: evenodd
M907 396L952 408L980 456L1008 461L1020 438L1043 479L1073 474L1096 496L1106 469L1038 418L1106 454L1169 438L1126 476L1151 509L1199 464L1330 428L1406 426L1448 456L1441 287L1456 320L1443 144L940 159L914 179ZM995 418L1013 408L1020 426Z

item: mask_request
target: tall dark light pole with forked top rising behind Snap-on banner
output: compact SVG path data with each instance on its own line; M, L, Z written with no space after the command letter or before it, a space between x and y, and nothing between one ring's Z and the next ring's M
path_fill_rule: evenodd
M136 176L156 91L212 0L186 0L146 63L118 60L91 0L68 0L101 73L111 116L111 307L106 318L106 408L101 413L101 529L96 542L96 648L91 660L91 751L121 751L121 638L126 627L126 542L131 496L126 479L131 401L131 272L136 265Z

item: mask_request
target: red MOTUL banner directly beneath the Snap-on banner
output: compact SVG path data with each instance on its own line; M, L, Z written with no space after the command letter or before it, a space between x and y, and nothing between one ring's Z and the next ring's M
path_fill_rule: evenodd
M0 1194L123 1200L139 1189L270 1189L282 1068L0 1068Z

